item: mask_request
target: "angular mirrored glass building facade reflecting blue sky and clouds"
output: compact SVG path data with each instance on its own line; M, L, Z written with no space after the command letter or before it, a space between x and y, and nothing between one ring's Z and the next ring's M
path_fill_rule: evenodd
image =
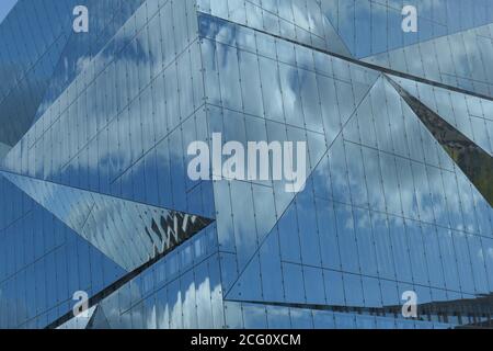
M490 0L19 0L0 328L492 327L492 61ZM305 189L193 180L218 133Z

